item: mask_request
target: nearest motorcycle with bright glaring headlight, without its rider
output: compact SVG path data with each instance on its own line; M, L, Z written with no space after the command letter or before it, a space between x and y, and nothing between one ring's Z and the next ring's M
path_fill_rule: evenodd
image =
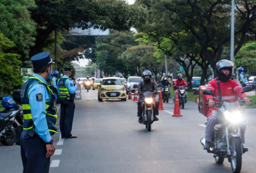
M244 87L241 93L251 91L251 87ZM203 94L212 95L218 98L211 90L204 90ZM208 103L205 103L208 105ZM214 127L212 142L208 153L213 153L216 163L222 164L224 158L228 158L234 173L239 173L242 167L242 154L248 151L242 148L240 126L243 122L243 110L240 105L244 101L237 102L219 102L214 106L219 107L219 116L217 125ZM244 126L248 126L246 123ZM205 138L200 140L205 145Z

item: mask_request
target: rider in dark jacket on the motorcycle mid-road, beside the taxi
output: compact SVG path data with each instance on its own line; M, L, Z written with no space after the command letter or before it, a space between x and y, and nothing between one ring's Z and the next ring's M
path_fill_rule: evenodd
M141 92L146 92L146 91L150 91L150 92L154 92L155 90L157 90L157 92L161 92L158 90L157 88L157 84L154 81L151 81L152 78L152 73L149 70L144 70L142 72L142 79L143 81L139 83L138 88L136 89L135 93L138 93L138 90L140 90ZM141 103L142 103L142 97L140 96L139 100L138 100L138 113L137 116L139 118L138 122L139 123L143 123L142 122L142 107L141 107ZM154 115L154 121L158 121L159 119L156 117L156 115L158 115L158 101L155 100L155 107L153 108L153 115Z

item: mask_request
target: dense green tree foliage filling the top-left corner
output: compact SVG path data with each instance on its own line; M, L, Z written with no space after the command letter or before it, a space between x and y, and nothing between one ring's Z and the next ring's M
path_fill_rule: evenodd
M0 33L14 42L11 49L23 59L28 58L35 41L36 26L28 10L34 7L34 0L0 0Z

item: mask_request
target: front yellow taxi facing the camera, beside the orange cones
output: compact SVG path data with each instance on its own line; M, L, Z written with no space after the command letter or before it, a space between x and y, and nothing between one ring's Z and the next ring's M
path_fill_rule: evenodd
M102 99L121 99L126 101L126 90L123 81L117 77L103 78L98 85L98 101Z

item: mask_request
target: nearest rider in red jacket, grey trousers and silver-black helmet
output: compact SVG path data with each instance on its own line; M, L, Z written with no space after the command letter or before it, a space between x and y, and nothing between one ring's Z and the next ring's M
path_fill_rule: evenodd
M219 89L217 84L217 81L219 81L222 100L225 100L228 102L236 102L238 100L238 95L242 91L242 87L239 86L236 81L231 80L233 68L234 68L234 65L229 60L221 60L217 62L215 71L218 78L215 78L214 80L210 81L207 85L207 89L212 90L215 95L219 96ZM205 130L206 143L204 146L204 150L209 150L214 126L216 125L217 117L219 116L219 113L218 113L219 107L215 107L214 104L215 102L219 102L219 100L217 98L214 98L212 95L206 95L206 98L210 108L206 116L207 117L206 130ZM243 99L246 104L250 104L250 99L246 97L245 93L241 94L240 98ZM243 124L241 124L240 126L240 132L241 132L241 142L242 144L244 144L245 126ZM243 147L243 152L245 151L248 151L248 149Z

